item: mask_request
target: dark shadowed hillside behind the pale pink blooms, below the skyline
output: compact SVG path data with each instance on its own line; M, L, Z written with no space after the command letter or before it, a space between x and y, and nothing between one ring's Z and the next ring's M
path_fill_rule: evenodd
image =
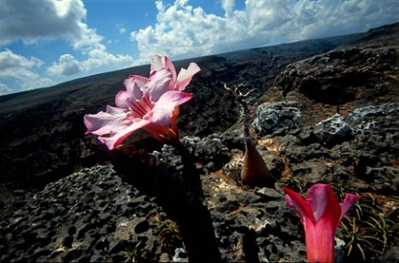
M206 136L235 124L239 108L221 88L222 82L245 83L256 89L255 97L260 96L287 64L328 51L351 38L301 41L174 62L178 72L190 62L202 69L188 87L188 92L195 94L193 100L181 107L182 133ZM116 93L124 89L123 80L130 74L148 73L149 66L138 66L0 97L2 184L43 187L81 166L104 159L104 145L84 135L83 115L104 111L106 104L114 105ZM143 138L146 134L138 133L130 139L134 142ZM152 140L150 145L154 143L152 148L160 147Z

